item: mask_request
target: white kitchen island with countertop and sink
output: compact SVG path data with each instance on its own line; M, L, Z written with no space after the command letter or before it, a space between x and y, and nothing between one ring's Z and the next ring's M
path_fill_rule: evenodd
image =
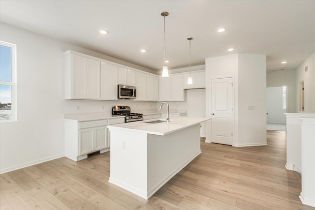
M173 117L108 125L109 182L149 199L201 153L200 123L210 118Z

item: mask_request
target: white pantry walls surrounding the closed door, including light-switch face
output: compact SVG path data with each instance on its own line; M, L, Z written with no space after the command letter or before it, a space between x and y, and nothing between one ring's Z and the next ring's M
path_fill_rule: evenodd
M266 144L266 56L232 54L206 59L206 107L211 105L211 78L226 76L234 77L233 146ZM248 105L254 110L248 110ZM206 115L211 116L210 109Z

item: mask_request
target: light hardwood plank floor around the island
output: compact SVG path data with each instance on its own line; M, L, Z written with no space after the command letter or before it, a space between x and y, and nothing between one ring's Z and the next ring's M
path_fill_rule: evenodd
M284 168L285 133L267 138L268 146L246 148L202 139L202 153L148 201L107 181L109 152L59 158L0 175L0 209L315 210L298 197L300 176Z

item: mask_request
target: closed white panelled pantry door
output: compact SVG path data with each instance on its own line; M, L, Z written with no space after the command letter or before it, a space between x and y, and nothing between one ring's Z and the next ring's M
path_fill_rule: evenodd
M232 145L232 78L211 80L211 142Z

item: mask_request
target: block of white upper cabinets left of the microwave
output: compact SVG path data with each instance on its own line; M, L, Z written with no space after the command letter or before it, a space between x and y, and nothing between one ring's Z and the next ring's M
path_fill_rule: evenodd
M65 99L117 100L117 65L72 51L64 55Z

